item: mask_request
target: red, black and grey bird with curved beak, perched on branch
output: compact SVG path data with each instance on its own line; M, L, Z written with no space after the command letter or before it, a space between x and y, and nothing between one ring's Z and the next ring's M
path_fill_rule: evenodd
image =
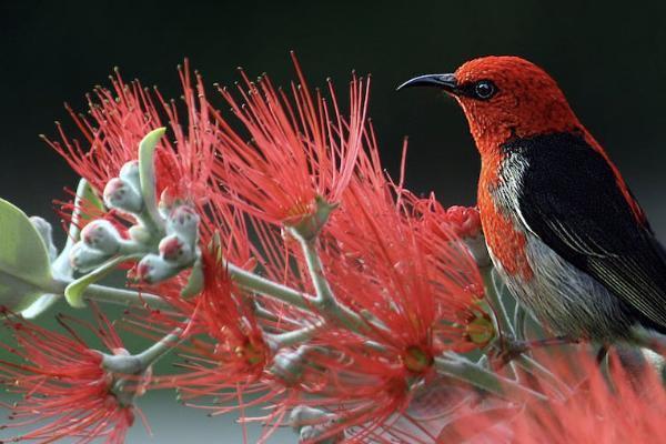
M486 57L436 87L463 107L481 153L478 208L493 263L555 332L604 343L666 332L666 254L617 168L555 81Z

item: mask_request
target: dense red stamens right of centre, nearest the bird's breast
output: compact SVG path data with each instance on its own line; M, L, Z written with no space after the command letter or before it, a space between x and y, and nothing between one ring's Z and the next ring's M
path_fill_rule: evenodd
M466 246L453 232L418 233L404 191L373 161L361 165L324 231L322 259L336 297L376 317L385 329L372 329L372 339L398 354L473 346L464 324L480 312L483 281Z

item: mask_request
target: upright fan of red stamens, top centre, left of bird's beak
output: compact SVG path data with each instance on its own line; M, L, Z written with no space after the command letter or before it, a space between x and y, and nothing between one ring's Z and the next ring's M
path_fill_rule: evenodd
M316 198L329 204L340 201L361 150L370 87L353 78L345 119L332 84L329 104L319 91L310 91L295 58L294 65L299 84L292 83L292 100L268 77L252 82L244 73L239 85L243 103L220 90L252 140L245 142L218 114L222 161L215 164L216 178L241 199L231 198L234 204L292 225L315 212Z

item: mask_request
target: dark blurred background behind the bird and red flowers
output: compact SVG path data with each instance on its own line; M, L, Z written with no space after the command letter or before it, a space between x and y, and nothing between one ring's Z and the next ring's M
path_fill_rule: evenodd
M84 93L108 84L113 67L178 98L175 65L188 57L214 97L212 83L232 84L238 65L286 84L291 49L311 85L331 77L342 94L352 69L372 73L371 115L386 168L397 174L408 135L407 186L435 191L446 205L475 202L478 155L462 111L434 90L395 87L480 56L536 62L558 81L666 241L663 1L0 0L0 198L58 224L52 200L77 178L38 134L54 135L53 120L71 128L62 102L84 111ZM241 440L233 418L208 418L167 394L142 406L153 442ZM134 428L130 443L149 440ZM285 432L274 442L294 440Z

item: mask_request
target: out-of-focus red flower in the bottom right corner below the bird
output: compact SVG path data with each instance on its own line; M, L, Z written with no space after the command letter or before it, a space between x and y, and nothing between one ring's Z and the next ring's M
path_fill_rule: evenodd
M448 424L437 442L451 442L455 436L460 442L501 444L652 443L666 433L666 393L652 369L632 374L613 359L612 377L607 380L595 360L584 352L557 354L541 362L568 383L569 396L563 401L514 404L502 414L497 411L468 415Z

